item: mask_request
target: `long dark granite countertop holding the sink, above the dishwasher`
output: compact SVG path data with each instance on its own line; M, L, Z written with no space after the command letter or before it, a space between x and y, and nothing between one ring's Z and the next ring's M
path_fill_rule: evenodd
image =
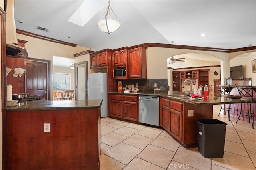
M238 99L229 99L229 98L215 97L215 96L209 96L208 100L191 100L189 98L180 98L180 97L172 96L172 95L185 95L185 93L179 92L179 91L164 91L164 92L161 92L160 94L154 94L154 92L139 92L139 93L109 92L109 94L159 96L159 97L169 98L172 100L190 103L194 105L221 105L221 104L230 104L230 103L246 103L246 101L242 101Z

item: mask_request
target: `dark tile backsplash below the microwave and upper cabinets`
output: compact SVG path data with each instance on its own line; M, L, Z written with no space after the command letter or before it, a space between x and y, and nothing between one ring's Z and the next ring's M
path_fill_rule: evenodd
M140 91L154 91L154 84L157 84L157 88L161 91L167 91L167 79L127 79L122 80L122 86L139 84Z

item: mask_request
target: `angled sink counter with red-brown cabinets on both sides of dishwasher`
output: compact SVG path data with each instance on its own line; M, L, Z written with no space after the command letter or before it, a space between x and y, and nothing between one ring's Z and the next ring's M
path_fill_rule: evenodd
M196 119L212 119L213 105L245 103L245 101L237 99L212 96L208 100L191 100L184 93L178 91L161 92L160 94L154 94L154 92L110 92L110 117L139 123L139 111L136 109L139 108L139 95L160 97L159 126L186 148L197 146ZM137 100L134 97L137 97Z

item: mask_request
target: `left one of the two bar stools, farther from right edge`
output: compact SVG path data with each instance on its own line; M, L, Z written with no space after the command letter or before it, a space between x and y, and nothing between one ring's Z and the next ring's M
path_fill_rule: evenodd
M218 85L218 87L220 88L220 97L224 97L226 99L237 99L238 97L235 95L230 95L231 92L231 87L230 85L228 85L228 87L220 87L220 85ZM236 111L236 115L238 116L238 104L237 104L237 108L235 107L235 104L233 104L233 108L231 107L231 104L227 104L228 108L223 107L223 105L221 105L220 107L220 112L222 110L224 111L228 111L228 121L230 121L230 111ZM220 113L219 113L220 115ZM218 115L218 117L219 117Z

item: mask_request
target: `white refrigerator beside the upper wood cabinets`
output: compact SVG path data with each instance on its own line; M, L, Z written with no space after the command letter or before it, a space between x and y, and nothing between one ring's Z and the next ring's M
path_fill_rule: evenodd
M107 74L92 73L88 75L87 81L88 99L102 99L101 117L108 116L108 90L107 90Z

